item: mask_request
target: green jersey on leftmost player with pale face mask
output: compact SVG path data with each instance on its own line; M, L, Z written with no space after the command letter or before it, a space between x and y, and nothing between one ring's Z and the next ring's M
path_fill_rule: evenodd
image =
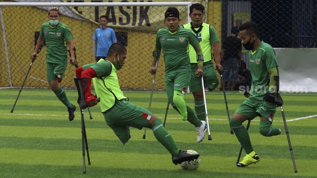
M40 36L44 37L46 43L46 62L67 64L67 41L74 38L68 26L61 22L50 26L50 22L45 22L42 24Z

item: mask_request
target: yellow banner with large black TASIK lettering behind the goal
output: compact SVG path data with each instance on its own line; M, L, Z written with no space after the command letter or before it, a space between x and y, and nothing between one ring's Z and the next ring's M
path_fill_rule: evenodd
M102 0L63 0L64 2L102 2ZM156 0L157 2L170 2L170 0ZM189 0L190 1L190 0ZM155 0L108 0L103 2L155 2ZM173 2L184 2L174 0ZM207 0L201 3L207 11ZM187 6L176 6L180 12L180 24L188 23ZM157 31L166 27L164 24L164 13L168 6L78 6L70 7L77 15L98 23L99 17L105 15L108 25L111 27L133 28L133 30ZM69 16L69 15L67 15Z

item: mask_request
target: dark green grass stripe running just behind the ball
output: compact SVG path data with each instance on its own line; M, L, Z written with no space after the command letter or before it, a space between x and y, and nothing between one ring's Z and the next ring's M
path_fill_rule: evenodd
M81 150L81 139L43 139L43 138L18 138L18 137L2 137L0 148L10 149L41 149L41 150ZM177 142L177 141L176 141ZM239 144L234 143L219 143L213 142L206 144L203 141L201 144L196 142L177 142L180 149L194 149L203 156L237 156L240 150ZM209 141L206 141L209 142ZM210 141L212 142L212 141ZM152 145L151 147L149 145ZM142 154L167 154L167 150L156 140L132 140L127 145L122 145L119 140L102 140L89 139L88 146L91 152L95 151L111 151L118 153L142 153ZM274 144L253 144L253 148L261 157L288 159L290 153L288 145ZM296 159L315 160L311 153L316 147L312 146L295 146L293 147ZM273 152L271 150L274 150ZM243 152L245 155L245 152Z

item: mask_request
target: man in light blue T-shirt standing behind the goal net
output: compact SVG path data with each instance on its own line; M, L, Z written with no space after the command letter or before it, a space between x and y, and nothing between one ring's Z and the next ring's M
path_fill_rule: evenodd
M94 33L93 53L97 62L101 58L105 59L110 46L117 42L115 31L107 27L107 23L108 20L106 16L100 16L100 28L97 28Z

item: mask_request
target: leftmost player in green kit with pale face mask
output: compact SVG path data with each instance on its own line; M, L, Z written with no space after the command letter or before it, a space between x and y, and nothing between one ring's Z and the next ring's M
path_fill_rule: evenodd
M74 119L74 111L76 107L69 102L65 91L60 87L59 83L62 81L68 63L67 44L70 51L70 63L77 65L74 54L73 35L69 28L64 23L60 22L61 11L58 8L51 8L49 10L49 21L42 24L40 36L38 37L35 49L31 55L35 55L40 45L45 39L46 43L46 63L47 63L47 79L58 99L68 109L68 119Z

